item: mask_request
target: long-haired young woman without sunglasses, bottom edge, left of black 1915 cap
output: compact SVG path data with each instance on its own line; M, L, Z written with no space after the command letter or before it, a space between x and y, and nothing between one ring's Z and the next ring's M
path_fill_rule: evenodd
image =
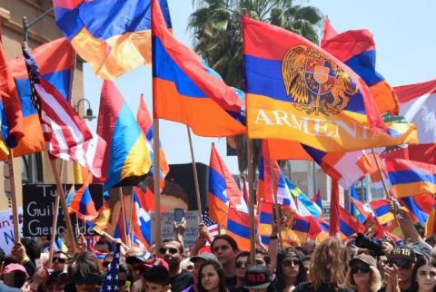
M203 262L198 271L198 292L227 292L223 266L214 260Z

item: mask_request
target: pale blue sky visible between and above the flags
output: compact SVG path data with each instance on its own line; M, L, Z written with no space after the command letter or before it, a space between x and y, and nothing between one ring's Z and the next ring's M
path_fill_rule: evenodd
M297 2L297 1L294 1ZM183 42L191 45L191 34L186 26L193 12L190 0L168 0L173 20L173 33ZM420 0L312 0L302 5L314 5L324 15L329 15L332 25L341 33L348 29L367 28L377 46L377 70L393 86L421 83L435 78L436 47L436 1ZM124 99L136 115L139 96L152 109L152 74L150 68L141 67L126 73L115 81ZM84 97L89 99L98 111L102 81L94 76L90 67L84 65ZM91 123L96 126L96 121ZM187 133L184 125L175 122L160 122L161 142L170 163L191 161ZM193 135L195 160L209 163L211 142L214 141L227 166L238 173L236 158L225 157L224 139L207 139Z

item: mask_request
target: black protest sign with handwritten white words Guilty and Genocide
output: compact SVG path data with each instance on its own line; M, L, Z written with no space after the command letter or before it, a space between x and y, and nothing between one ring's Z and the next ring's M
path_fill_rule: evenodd
M64 184L64 193L71 189L71 184ZM82 185L74 185L79 190ZM94 200L95 209L103 205L103 184L89 185L89 192ZM23 184L23 235L25 237L45 237L52 234L54 216L54 200L56 196L55 184ZM74 234L93 234L92 228L85 226L75 214L70 215L74 227ZM64 209L59 205L57 218L57 234L66 234Z

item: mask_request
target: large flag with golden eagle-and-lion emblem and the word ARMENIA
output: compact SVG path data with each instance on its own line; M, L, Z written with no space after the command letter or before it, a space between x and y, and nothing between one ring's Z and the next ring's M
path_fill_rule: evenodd
M410 124L384 124L362 78L298 34L243 17L248 136L321 151L416 143Z

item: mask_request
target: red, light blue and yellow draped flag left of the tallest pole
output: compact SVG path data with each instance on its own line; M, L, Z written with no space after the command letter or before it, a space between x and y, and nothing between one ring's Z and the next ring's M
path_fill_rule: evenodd
M144 179L152 165L144 134L110 81L103 83L97 133L107 142L102 166L104 190Z

